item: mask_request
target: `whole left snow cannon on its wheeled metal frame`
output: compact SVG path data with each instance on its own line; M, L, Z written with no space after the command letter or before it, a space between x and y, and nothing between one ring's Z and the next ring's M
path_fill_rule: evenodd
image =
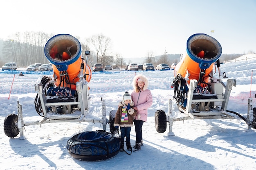
M45 56L52 63L54 74L53 78L43 76L40 83L35 84L37 95L34 101L36 112L43 119L36 122L23 121L22 105L18 101L18 115L12 113L4 120L4 133L8 137L16 137L20 134L20 139L25 139L25 126L35 124L41 126L41 124L58 122L92 122L94 124L98 122L103 127L103 130L99 130L102 132L106 132L107 123L110 123L110 129L112 129L110 131L115 131L113 121L107 121L106 102L103 98L101 98L102 118L93 118L88 112L91 99L89 82L92 72L87 65L88 59L90 60L90 51L86 50L84 54L85 57L82 56L80 42L69 34L55 35L47 41ZM115 118L115 115L110 117L111 120L114 120L113 117ZM106 141L103 142L106 143ZM74 154L77 155L77 153ZM86 154L79 156L85 158ZM107 158L107 156L109 155L102 157ZM101 155L99 157L101 158Z

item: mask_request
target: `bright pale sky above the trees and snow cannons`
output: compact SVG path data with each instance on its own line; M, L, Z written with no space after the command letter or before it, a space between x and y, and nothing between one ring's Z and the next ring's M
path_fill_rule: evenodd
M205 33L223 54L256 52L256 0L5 0L1 7L3 39L25 31L81 41L103 34L112 55L130 58L184 53L191 35Z

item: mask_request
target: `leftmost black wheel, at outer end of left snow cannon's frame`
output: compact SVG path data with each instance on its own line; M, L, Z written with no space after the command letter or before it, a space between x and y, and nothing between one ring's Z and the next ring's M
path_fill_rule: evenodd
M16 137L20 133L18 129L18 115L9 114L4 119L4 133L8 137Z

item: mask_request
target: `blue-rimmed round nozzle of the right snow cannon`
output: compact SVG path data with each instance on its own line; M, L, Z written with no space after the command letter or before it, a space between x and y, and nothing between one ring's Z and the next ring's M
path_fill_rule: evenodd
M200 69L207 69L219 59L222 48L215 38L207 34L194 34L187 40L186 51L193 61L199 63Z

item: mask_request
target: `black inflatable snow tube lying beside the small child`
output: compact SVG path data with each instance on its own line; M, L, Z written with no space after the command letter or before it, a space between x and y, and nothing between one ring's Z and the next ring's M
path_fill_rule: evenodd
M99 161L119 153L120 138L106 131L88 131L74 135L67 141L67 151L76 159Z

